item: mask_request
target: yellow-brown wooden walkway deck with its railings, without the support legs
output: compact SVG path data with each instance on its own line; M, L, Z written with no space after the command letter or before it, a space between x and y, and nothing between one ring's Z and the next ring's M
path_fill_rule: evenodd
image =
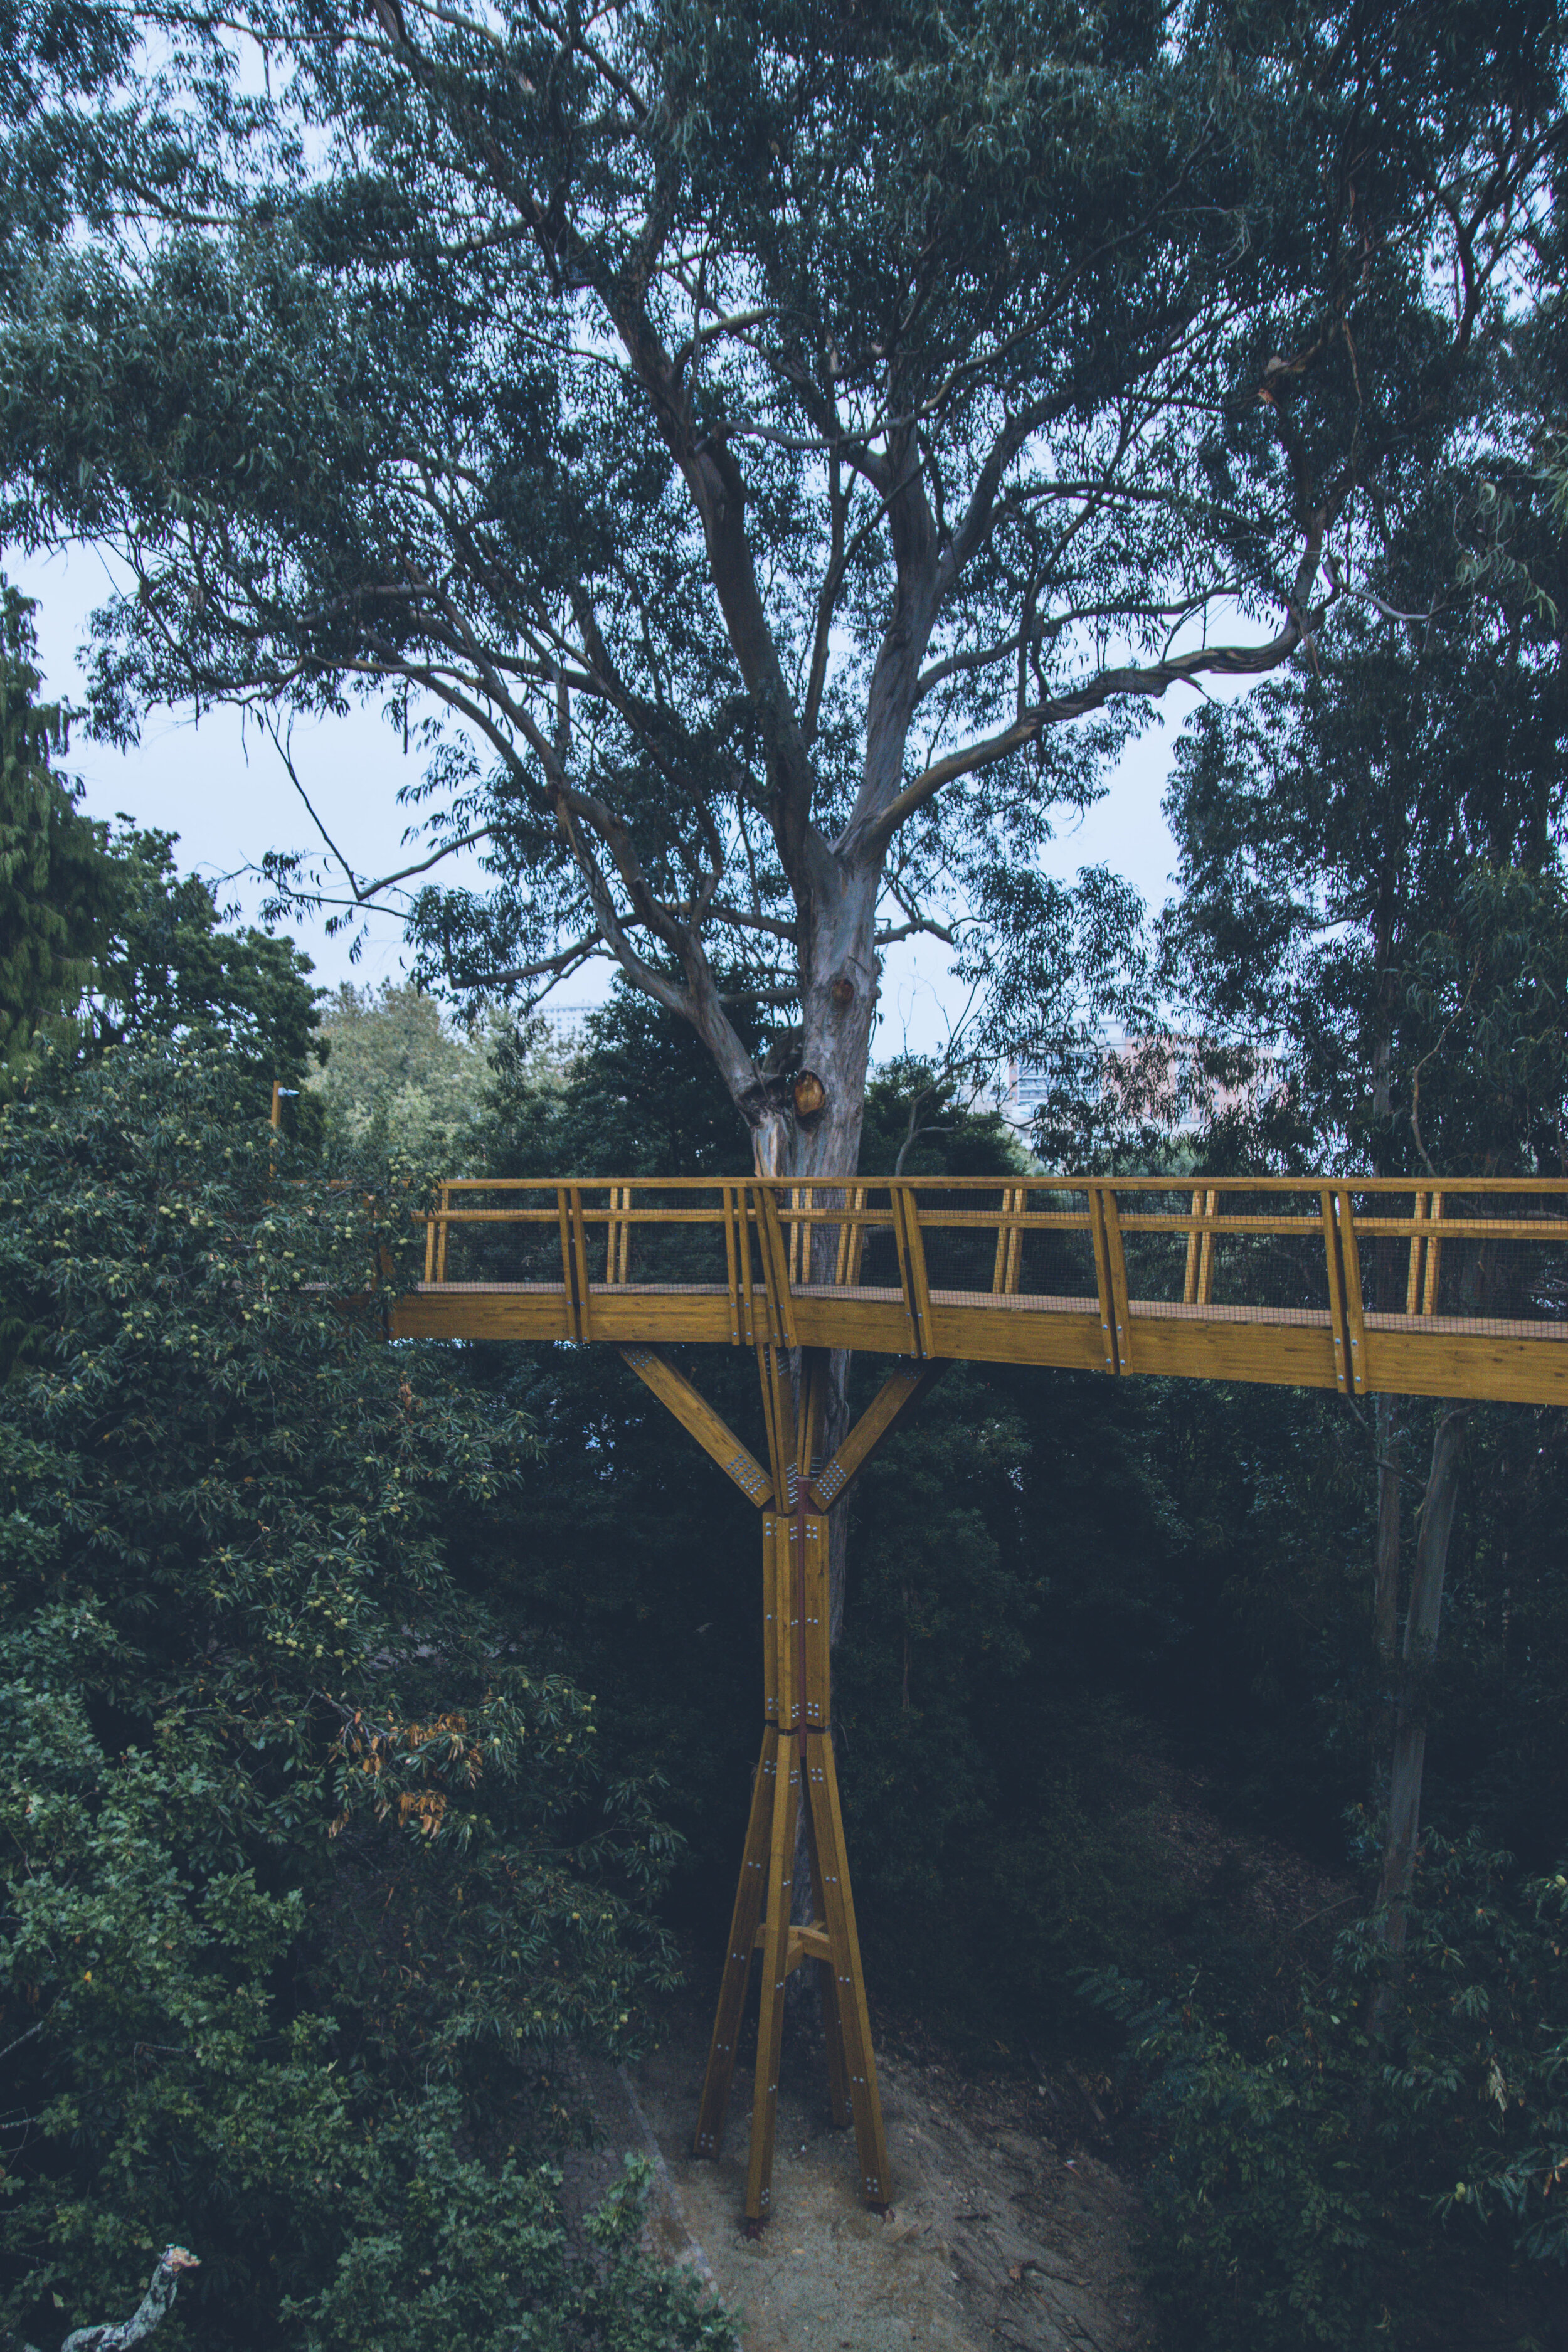
M1568 1181L463 1181L393 1334L1568 1404Z

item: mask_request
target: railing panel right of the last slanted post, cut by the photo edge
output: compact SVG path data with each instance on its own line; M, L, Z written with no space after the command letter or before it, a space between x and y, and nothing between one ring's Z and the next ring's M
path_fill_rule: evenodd
M1349 1188L1373 1329L1568 1336L1568 1185Z

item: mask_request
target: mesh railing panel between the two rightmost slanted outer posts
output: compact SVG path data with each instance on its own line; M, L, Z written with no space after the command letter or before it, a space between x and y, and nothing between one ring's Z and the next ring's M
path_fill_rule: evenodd
M1133 1315L1331 1319L1316 1188L1119 1190L1117 1214Z

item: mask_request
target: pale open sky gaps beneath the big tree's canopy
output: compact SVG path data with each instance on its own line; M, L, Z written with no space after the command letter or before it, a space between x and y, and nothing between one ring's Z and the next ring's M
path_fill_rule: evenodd
M38 600L33 621L45 696L82 701L78 647L87 637L92 607L108 590L103 560L85 548L35 560L12 555L5 572L24 595ZM1171 741L1192 703L1190 691L1171 691L1168 708L1124 755L1107 797L1081 821L1063 823L1046 854L1051 873L1072 877L1081 866L1110 866L1126 875L1145 903L1164 903L1175 844L1159 802ZM92 816L125 811L141 826L176 833L181 870L214 882L221 901L240 906L252 920L263 898L256 873L263 851L315 847L310 816L277 750L256 724L242 724L230 710L209 713L200 727L188 717L155 713L132 753L75 731L63 764L87 786L85 807ZM402 830L416 811L397 807L397 790L418 779L418 755L404 757L402 739L374 710L296 729L294 764L322 823L360 875L390 873L416 854L402 847ZM440 868L447 877L461 870L456 858ZM480 880L470 861L468 877ZM388 915L369 920L357 964L348 960L348 941L329 938L317 917L303 920L296 936L327 985L341 978L374 983L404 969L400 929ZM590 964L557 990L555 1002L595 1004L609 995L609 983L611 967ZM938 941L900 941L886 950L882 1009L875 1044L879 1058L903 1049L940 1049L945 1018L957 1018L961 993Z

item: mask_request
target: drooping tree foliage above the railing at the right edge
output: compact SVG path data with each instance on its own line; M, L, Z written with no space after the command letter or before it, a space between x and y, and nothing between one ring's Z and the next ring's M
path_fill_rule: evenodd
M1204 710L1178 743L1171 969L1204 1025L1274 1061L1262 1115L1211 1150L1549 1171L1568 1103L1561 649L1455 595L1453 543L1401 553L1389 593L1448 600L1418 642L1356 621L1314 673Z

